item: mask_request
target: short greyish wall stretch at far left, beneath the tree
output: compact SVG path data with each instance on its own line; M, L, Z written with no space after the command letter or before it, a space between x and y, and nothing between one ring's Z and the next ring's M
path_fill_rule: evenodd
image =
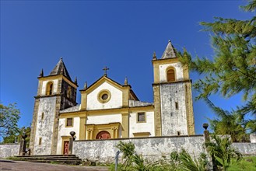
M12 157L19 155L19 144L0 145L0 158Z

